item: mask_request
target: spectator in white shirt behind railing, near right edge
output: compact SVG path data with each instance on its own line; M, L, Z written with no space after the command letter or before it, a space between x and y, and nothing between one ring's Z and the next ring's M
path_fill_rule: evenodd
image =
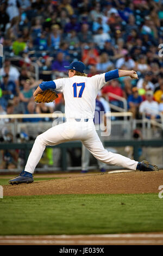
M159 104L153 100L152 90L146 92L146 100L141 102L139 113L141 115L145 113L146 118L148 119L159 118Z

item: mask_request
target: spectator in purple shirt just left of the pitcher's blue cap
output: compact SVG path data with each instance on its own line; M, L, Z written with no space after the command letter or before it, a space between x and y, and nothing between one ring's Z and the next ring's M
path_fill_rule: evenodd
M67 62L67 60L64 60L64 54L62 52L59 52L57 54L57 60L55 60L52 63L52 70L53 71L59 71L59 72L66 72L67 69L64 68L64 66L69 66L70 63Z

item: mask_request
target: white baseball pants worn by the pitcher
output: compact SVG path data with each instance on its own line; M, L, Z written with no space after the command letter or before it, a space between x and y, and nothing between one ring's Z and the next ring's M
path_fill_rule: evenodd
M47 145L57 145L76 140L82 141L97 160L106 164L114 164L116 166L136 170L137 161L108 152L104 149L97 135L93 119L89 119L89 121L85 122L84 120L76 121L73 118L68 119L66 123L52 127L36 137L24 170L29 173L34 173L35 167L37 163L39 163Z

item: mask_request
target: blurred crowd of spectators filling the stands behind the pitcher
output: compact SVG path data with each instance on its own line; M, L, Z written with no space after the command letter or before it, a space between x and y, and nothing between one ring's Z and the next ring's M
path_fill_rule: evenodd
M55 105L36 105L33 91L42 80L66 77L64 65L82 60L88 76L116 68L135 70L139 80L110 81L101 97L113 111L124 108L125 99L134 118L144 113L147 118L160 118L162 0L8 0L1 1L0 15L5 56L0 69L0 114L63 112L62 95Z

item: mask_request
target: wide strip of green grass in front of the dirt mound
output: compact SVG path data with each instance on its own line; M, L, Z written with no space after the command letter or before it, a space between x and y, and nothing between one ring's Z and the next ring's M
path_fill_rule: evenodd
M158 194L66 194L0 199L0 235L163 231Z

